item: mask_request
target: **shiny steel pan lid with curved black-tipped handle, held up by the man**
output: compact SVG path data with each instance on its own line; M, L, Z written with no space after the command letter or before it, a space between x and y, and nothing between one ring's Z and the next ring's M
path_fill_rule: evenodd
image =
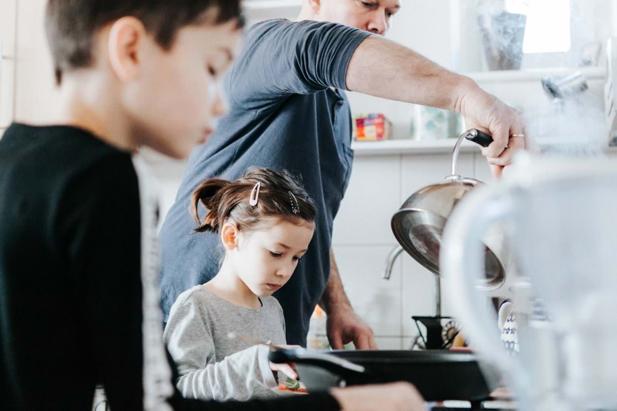
M439 275L441 235L452 210L466 193L484 182L457 174L458 152L463 139L487 147L493 141L489 134L477 129L458 137L452 153L452 171L444 182L431 184L413 193L392 216L392 231L400 245L422 266ZM479 288L495 290L505 280L504 264L485 245L486 280Z

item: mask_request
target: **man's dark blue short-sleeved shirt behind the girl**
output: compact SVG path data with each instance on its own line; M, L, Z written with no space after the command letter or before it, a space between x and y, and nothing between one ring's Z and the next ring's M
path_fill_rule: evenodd
M288 343L305 345L310 315L328 282L333 220L353 160L349 104L337 89L346 89L349 60L368 35L336 23L288 20L249 30L225 80L230 113L189 158L160 232L165 319L178 295L212 279L222 261L217 234L193 234L189 203L197 185L214 176L236 179L250 166L287 169L302 177L318 210L309 250L275 293Z

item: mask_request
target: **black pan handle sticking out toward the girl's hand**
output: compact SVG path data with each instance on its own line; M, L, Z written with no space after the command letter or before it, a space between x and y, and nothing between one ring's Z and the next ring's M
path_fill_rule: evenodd
M307 351L304 348L281 349L270 352L268 359L275 364L283 362L297 362L300 364L317 365L338 375L349 375L350 373L365 373L362 365L354 364L331 354L322 352Z

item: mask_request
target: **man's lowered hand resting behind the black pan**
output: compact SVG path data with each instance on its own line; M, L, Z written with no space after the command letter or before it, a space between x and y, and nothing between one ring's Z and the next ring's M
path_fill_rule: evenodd
M348 305L328 312L326 328L333 349L342 349L344 344L352 341L356 349L377 349L373 330Z

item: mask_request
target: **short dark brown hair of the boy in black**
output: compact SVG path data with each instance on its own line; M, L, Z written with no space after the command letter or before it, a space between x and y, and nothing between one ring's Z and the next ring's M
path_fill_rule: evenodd
M230 20L244 25L240 0L49 0L45 25L56 83L62 73L92 62L93 39L108 23L124 16L139 18L165 50L184 26L204 22L210 10L213 24Z

